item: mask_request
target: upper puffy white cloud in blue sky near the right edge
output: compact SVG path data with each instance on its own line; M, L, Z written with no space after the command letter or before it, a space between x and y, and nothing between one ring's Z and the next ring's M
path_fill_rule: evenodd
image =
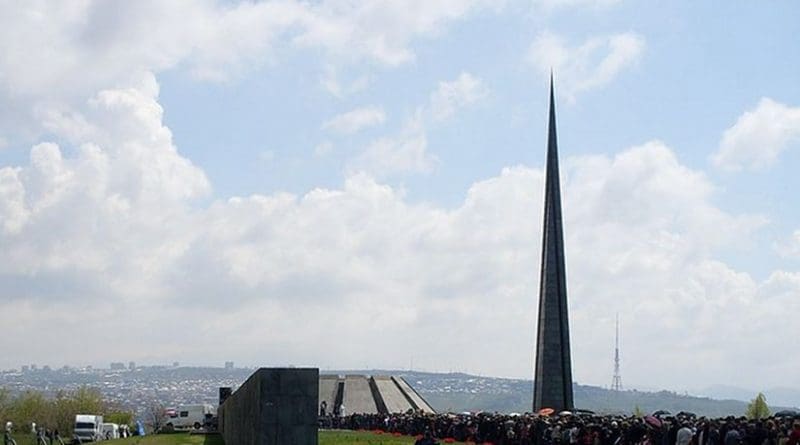
M800 107L793 108L765 97L755 109L746 111L725 130L711 161L729 171L765 168L798 141Z

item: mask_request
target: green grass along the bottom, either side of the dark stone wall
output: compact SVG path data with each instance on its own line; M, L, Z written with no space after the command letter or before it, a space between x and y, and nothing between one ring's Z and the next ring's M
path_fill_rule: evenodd
M25 437L16 438L17 445L35 445ZM225 445L220 436L201 436L190 434L160 434L155 436L130 437L101 443L109 445ZM371 431L320 431L319 445L413 445L411 437L394 437L389 434L375 434Z

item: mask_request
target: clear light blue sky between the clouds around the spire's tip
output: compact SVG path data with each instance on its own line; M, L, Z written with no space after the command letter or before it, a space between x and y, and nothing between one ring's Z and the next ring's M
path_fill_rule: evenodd
M440 160L435 171L389 179L412 201L452 207L475 180L504 166L543 162L547 79L525 60L532 40L551 32L578 44L597 35L633 32L646 47L631 67L602 88L570 100L559 96L562 153L614 153L663 140L683 164L707 171L726 191L716 197L720 205L771 215L780 229L762 236L774 242L793 228L782 221L800 217L795 206L781 204L800 187L793 169L782 168L793 164L732 175L710 168L709 156L722 131L761 97L800 102L795 80L800 62L788 43L797 32L797 13L788 4L785 9L679 2L565 9L509 4L415 42L414 61L400 67L337 66L345 82L370 79L363 90L345 97L333 97L320 84L335 62L308 50L281 54L279 61L223 84L169 70L159 77L160 102L177 145L209 176L214 197L302 194L340 184L354 152L400 131L439 81L471 73L487 86L488 97L457 120L428 130L431 152ZM365 105L382 107L386 122L352 136L321 129L331 116ZM315 157L315 147L326 142L332 153ZM783 261L769 254L753 261L752 252L745 257L732 253L730 258L762 278Z

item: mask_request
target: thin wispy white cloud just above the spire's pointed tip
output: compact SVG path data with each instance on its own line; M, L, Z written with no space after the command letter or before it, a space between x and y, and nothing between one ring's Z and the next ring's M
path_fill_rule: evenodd
M645 40L633 32L593 37L568 46L560 36L545 32L531 44L528 60L542 74L555 72L559 89L568 100L609 84L644 54Z

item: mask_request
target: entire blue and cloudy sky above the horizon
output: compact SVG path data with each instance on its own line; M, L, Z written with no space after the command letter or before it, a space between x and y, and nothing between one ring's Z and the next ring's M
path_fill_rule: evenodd
M797 386L796 2L0 12L0 368L529 378L552 68L574 378Z

